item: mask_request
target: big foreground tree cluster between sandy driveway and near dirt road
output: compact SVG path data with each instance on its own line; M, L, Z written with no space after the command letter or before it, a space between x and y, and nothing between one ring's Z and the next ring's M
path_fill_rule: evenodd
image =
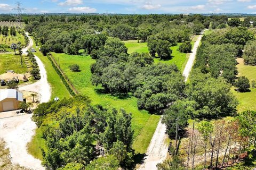
M46 140L47 151L42 151L47 169L117 169L133 163L131 113L123 109L91 106L89 98L77 95L39 105L33 121ZM104 151L97 149L102 145ZM100 154L104 157L97 159Z

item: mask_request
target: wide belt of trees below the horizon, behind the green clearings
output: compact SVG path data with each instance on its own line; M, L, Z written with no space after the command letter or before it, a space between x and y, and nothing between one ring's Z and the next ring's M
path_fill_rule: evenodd
M34 33L44 55L50 51L74 55L79 54L80 49L91 54L102 48L108 37L143 41L151 37L157 43L153 42L150 49L168 58L171 45L187 41L191 34L209 26L210 21L204 23L206 18L202 15L90 15L78 16L74 21L71 16L46 16L35 17L25 30ZM155 56L153 51L151 55Z

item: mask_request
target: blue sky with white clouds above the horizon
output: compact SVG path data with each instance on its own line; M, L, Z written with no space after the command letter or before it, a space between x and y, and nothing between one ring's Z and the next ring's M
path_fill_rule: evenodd
M255 13L256 0L18 0L24 13ZM0 13L14 13L0 0Z

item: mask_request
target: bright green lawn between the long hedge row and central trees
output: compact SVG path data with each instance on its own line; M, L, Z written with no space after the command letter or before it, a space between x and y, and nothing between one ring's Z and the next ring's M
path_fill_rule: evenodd
M55 60L60 61L60 67L67 74L76 89L89 96L92 104L100 104L108 108L124 108L126 112L132 113L132 127L134 130L133 148L135 151L145 153L155 132L160 116L151 115L147 111L139 111L137 99L131 94L125 97L102 94L101 87L95 87L91 83L90 66L95 62L90 56L70 56L67 54L52 53ZM71 64L78 64L81 72L71 72L68 68Z

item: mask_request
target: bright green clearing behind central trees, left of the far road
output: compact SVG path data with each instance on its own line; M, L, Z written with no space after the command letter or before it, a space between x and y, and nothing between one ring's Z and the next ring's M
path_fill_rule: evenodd
M196 39L198 36L195 36L191 41L191 44L194 46ZM128 53L131 54L133 52L138 53L149 53L147 43L138 43L137 40L128 40L123 41L125 46L128 48ZM176 64L180 71L185 69L186 63L188 61L189 54L180 53L179 47L182 43L178 43L176 46L172 46L172 58L170 60L160 60L160 58L155 58L155 63L166 63L166 64Z

